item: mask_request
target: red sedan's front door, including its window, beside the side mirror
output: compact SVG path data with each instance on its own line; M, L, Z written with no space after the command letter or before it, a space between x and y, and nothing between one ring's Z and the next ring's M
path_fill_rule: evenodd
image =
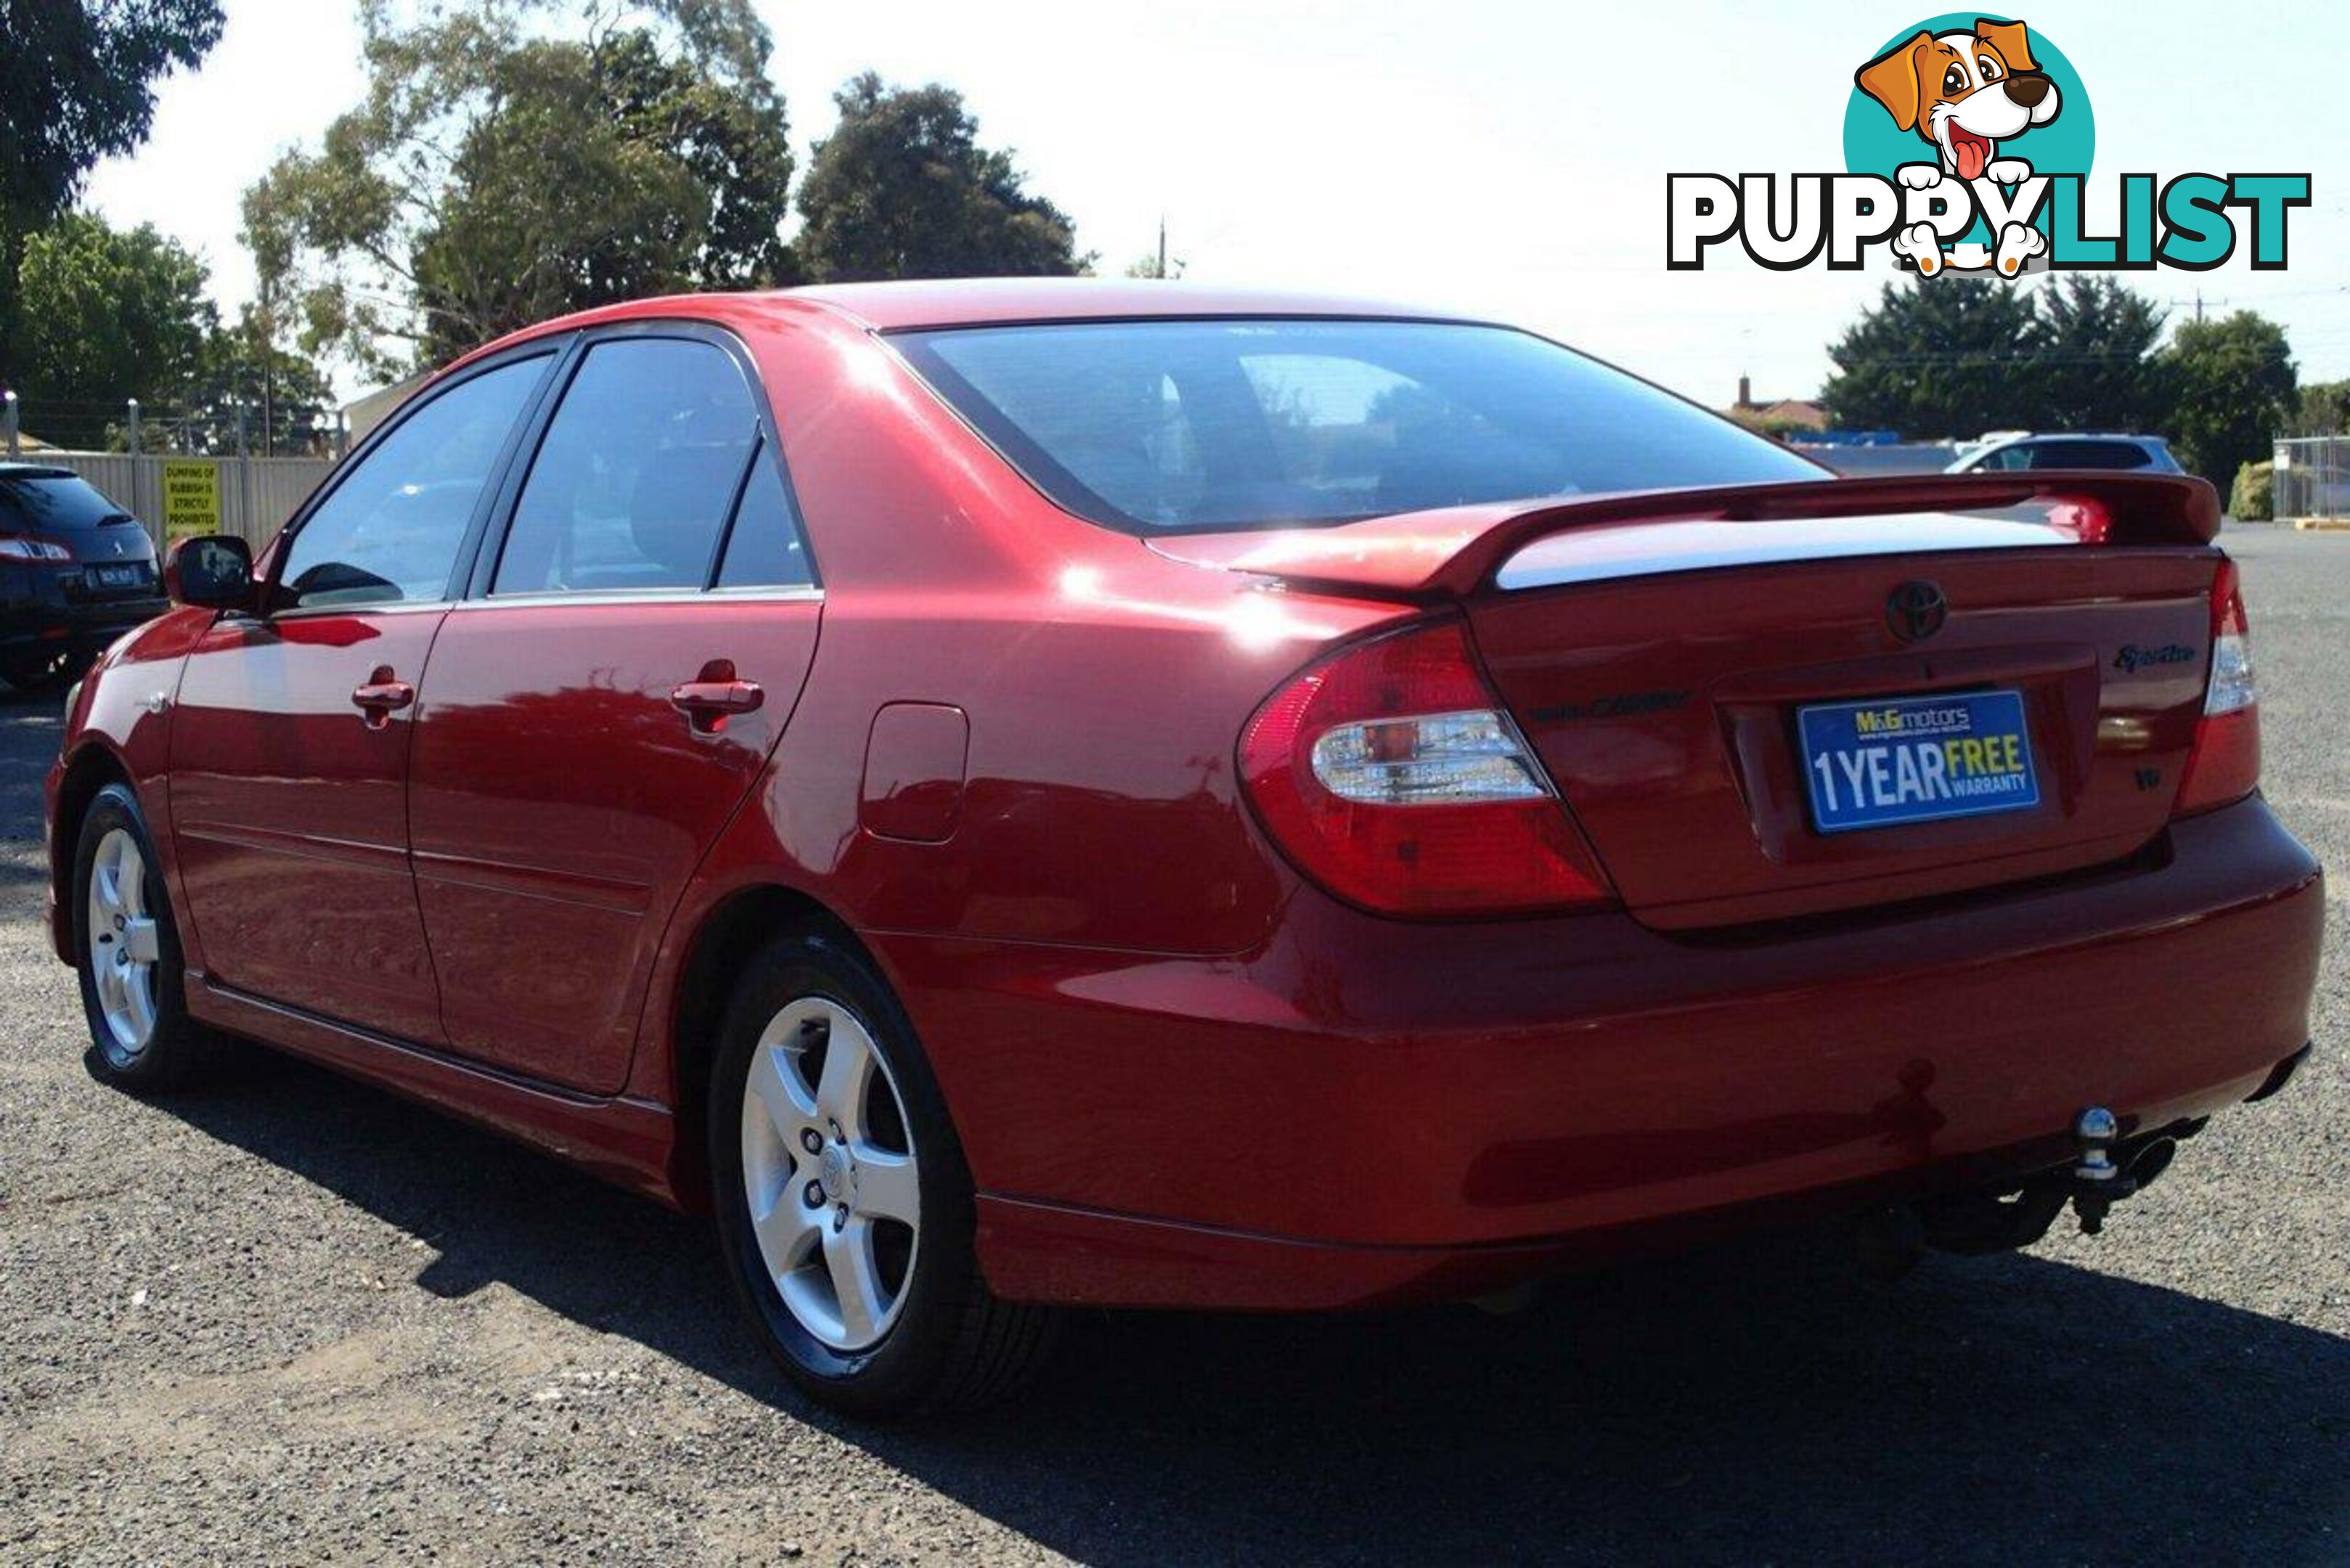
M416 682L552 364L491 362L404 409L273 550L266 614L188 656L172 820L209 980L439 1041L409 872Z

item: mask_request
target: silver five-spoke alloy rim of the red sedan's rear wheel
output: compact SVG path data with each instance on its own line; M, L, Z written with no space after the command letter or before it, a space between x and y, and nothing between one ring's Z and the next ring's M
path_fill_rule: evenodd
M799 997L761 1030L743 1197L792 1319L837 1352L879 1345L914 1281L921 1178L888 1063L841 1001Z

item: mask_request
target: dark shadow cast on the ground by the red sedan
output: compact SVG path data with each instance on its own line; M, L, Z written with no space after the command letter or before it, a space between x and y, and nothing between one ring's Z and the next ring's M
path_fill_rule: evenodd
M172 1110L425 1237L421 1288L503 1281L1079 1559L2343 1549L2350 1342L2059 1262L1873 1288L1805 1237L1516 1319L1093 1314L1015 1406L870 1432L768 1371L696 1222L275 1058Z

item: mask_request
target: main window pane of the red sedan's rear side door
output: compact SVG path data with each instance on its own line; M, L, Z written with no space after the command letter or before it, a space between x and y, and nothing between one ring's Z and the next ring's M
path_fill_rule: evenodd
M588 350L515 503L491 592L703 588L759 421L724 350Z

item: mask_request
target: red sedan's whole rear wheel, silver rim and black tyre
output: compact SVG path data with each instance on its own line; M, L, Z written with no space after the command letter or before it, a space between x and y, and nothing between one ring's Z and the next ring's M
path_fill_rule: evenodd
M980 1279L945 1095L860 952L830 931L759 950L712 1074L719 1244L792 1382L891 1418L999 1399L1043 1363L1058 1314Z

